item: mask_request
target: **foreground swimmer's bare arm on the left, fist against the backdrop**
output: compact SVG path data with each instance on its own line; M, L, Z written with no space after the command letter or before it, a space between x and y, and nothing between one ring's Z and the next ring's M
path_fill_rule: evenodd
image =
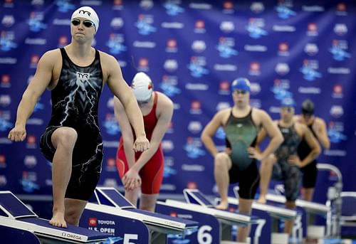
M26 121L31 116L38 98L51 83L53 67L58 60L58 55L58 50L48 51L38 61L36 73L23 92L17 107L15 126L9 132L9 139L19 142L26 138Z

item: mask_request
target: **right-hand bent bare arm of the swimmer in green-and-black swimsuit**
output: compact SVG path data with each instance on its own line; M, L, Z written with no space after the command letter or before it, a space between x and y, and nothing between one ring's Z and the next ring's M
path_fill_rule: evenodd
M254 112L256 113L256 121L261 123L261 127L265 129L266 134L270 138L270 141L263 152L258 152L258 150L253 147L248 148L248 154L250 154L250 157L261 161L268 157L269 154L276 151L276 149L283 142L283 135L265 111L254 109Z

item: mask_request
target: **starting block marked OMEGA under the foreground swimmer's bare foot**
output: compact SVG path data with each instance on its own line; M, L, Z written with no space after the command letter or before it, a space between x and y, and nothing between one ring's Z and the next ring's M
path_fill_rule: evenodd
M8 240L2 239L5 243L36 243L36 238L41 243L100 243L108 239L110 235L99 233L93 230L70 226L60 228L51 226L48 220L38 218L19 198L11 191L0 191L0 231L16 231L26 233L23 240L19 235L5 235ZM31 233L36 236L34 238ZM27 238L26 238L27 236ZM31 236L29 238L28 236ZM19 242L20 241L20 242Z

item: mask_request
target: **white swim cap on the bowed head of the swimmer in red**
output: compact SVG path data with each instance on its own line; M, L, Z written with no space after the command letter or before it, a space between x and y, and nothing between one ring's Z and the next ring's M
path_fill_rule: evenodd
M152 80L143 72L139 72L135 75L131 83L131 88L138 102L147 101L152 96Z

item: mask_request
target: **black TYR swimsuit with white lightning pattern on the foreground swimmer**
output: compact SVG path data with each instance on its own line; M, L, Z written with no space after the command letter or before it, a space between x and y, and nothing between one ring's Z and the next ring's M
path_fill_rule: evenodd
M98 102L103 90L100 55L95 50L93 63L75 65L61 48L62 70L58 84L51 92L52 115L41 136L40 148L53 161L56 149L51 143L59 127L71 127L78 133L73 150L72 174L66 198L88 201L98 184L103 163L103 139L98 126Z

